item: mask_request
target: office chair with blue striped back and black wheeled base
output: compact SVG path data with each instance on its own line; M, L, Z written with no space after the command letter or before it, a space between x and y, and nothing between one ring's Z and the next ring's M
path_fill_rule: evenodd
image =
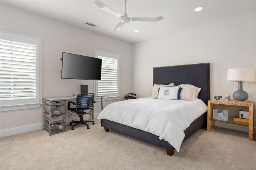
M89 125L87 124L88 122L92 122L92 124L94 125L94 121L87 121L83 119L83 115L85 114L90 114L92 115L92 111L93 111L93 101L94 101L94 93L87 93L87 94L78 94L76 97L76 103L74 102L68 102L68 110L70 110L71 112L75 112L79 117L80 117L80 121L72 121L69 123L72 130L74 130L74 127L76 125L86 125L87 129L90 129ZM70 104L73 104L76 107L71 108ZM72 125L72 123L76 123L74 125Z

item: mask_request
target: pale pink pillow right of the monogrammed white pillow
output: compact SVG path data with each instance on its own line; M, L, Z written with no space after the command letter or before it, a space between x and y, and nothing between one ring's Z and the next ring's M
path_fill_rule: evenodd
M193 101L197 98L201 88L193 86L192 84L180 84L178 85L182 88L180 93L180 100Z

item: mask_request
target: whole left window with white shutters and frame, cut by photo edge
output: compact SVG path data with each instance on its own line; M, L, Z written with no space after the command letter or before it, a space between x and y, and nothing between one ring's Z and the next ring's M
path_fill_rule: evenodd
M42 39L0 30L0 110L40 107Z

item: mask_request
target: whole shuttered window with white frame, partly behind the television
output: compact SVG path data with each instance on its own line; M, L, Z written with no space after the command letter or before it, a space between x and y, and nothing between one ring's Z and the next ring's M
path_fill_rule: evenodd
M101 80L94 81L95 95L104 95L104 100L118 99L119 54L94 50L94 57L102 59Z

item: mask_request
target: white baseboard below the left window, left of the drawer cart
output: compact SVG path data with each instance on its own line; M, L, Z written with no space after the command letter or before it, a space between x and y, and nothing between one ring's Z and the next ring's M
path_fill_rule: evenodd
M0 137L6 137L6 136L16 135L16 134L20 134L20 133L41 130L41 129L43 129L43 123L22 126L22 127L16 127L16 128L12 128L12 129L5 129L5 130L0 131Z

